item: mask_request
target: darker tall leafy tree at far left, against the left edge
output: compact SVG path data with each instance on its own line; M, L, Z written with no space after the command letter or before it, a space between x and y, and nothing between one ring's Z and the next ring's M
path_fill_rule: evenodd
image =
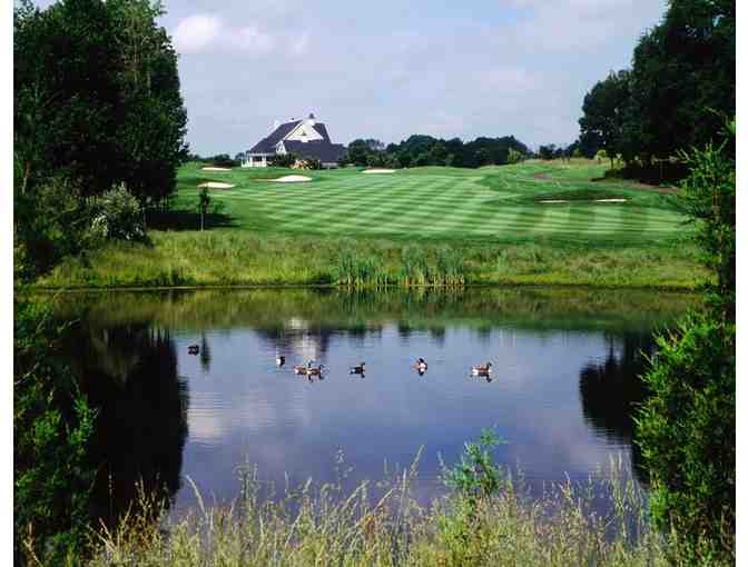
M52 172L83 196L117 179L120 92L112 21L100 0L67 0L13 18L14 151L21 190Z

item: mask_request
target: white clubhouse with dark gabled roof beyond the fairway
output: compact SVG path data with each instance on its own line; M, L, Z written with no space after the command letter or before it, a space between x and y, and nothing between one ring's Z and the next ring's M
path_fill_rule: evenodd
M324 168L336 168L345 147L329 140L327 128L314 115L306 119L276 121L274 130L244 153L243 168L264 168L275 156L293 153L297 160L318 159Z

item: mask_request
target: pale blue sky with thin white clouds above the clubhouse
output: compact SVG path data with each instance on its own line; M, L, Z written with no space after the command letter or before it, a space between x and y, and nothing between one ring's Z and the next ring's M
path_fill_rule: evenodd
M666 3L167 0L165 8L160 22L180 53L187 139L209 156L245 150L276 119L308 112L343 143L412 133L569 143L584 93L629 67Z

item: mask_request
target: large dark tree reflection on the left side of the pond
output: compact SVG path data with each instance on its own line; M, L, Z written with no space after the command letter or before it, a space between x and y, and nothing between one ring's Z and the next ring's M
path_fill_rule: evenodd
M168 506L179 489L187 438L187 384L169 332L147 324L80 326L68 352L98 408L95 514L111 525L137 504L137 483Z

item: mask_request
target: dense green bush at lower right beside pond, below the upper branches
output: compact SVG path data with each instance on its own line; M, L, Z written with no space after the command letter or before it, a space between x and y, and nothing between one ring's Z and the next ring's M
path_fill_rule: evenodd
M673 530L686 564L735 555L735 325L691 315L660 335L652 391L637 418L656 524Z

